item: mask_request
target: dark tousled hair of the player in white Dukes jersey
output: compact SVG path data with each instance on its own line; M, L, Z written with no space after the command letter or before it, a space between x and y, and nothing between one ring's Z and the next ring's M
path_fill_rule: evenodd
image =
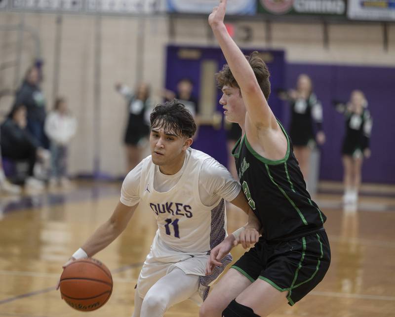
M177 99L158 104L152 111L150 120L152 129L163 128L166 134L173 131L179 136L192 138L196 132L194 117Z

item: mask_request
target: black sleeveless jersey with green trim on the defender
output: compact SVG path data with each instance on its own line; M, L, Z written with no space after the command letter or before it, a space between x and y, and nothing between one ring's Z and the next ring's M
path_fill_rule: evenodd
M263 236L267 240L286 240L314 232L326 220L306 190L292 143L278 123L288 143L283 159L261 157L252 149L245 135L232 151L244 195L261 221Z

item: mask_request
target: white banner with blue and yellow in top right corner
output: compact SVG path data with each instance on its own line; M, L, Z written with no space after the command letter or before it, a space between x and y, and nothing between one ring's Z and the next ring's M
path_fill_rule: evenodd
M395 21L395 0L349 0L351 20Z

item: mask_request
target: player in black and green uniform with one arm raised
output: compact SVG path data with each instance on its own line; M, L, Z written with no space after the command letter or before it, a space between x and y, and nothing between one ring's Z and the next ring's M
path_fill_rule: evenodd
M306 191L292 143L267 99L269 71L257 53L245 57L224 25L226 0L208 22L228 62L217 74L226 118L242 130L233 155L240 183L263 234L220 279L200 309L200 317L268 316L294 305L329 268L325 215ZM233 246L234 235L211 250L206 274Z

